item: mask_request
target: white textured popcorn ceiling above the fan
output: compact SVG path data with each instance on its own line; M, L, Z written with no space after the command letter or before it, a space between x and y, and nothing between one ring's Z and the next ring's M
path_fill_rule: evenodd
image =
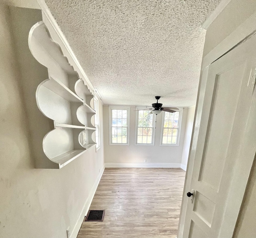
M104 104L196 103L207 16L220 0L46 0Z

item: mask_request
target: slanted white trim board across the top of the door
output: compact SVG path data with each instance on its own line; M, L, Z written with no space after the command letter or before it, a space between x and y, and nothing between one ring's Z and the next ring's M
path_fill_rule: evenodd
M256 26L256 12L247 18L236 30L228 35L216 47L214 47L207 55L203 57L202 67L203 70L216 59L221 57L224 53L229 51L232 47L237 45L240 41L255 31Z

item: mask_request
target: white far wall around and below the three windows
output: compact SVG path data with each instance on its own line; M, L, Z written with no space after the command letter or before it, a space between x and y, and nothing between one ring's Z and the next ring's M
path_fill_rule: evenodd
M180 167L184 135L186 130L187 108L183 110L180 146L160 146L162 115L156 118L155 146L135 146L135 106L130 108L130 146L109 145L109 116L108 106L103 107L104 118L104 157L106 166L171 166ZM147 160L144 163L144 159ZM123 164L120 164L123 163ZM124 163L139 163L138 165L124 165ZM141 164L142 163L142 164ZM161 164L164 163L164 164ZM152 165L154 164L154 165Z

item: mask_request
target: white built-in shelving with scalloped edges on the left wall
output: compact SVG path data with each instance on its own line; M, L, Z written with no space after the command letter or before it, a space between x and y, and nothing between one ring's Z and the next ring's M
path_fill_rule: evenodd
M38 140L39 146L34 146L40 148L41 144L45 154L36 156L36 167L62 168L96 144L94 96L52 40L44 22L31 28L28 45L34 58L48 70L48 79L42 79L37 87L36 102L54 126L42 141Z

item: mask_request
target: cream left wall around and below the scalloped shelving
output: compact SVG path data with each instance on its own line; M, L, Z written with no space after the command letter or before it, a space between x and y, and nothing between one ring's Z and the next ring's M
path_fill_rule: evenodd
M20 8L14 12L30 24L41 18L38 10ZM59 170L34 168L20 81L24 71L38 77L40 66L39 71L32 67L36 61L31 56L33 63L26 59L26 69L20 69L10 13L0 4L0 237L65 238L68 226L71 232L75 229L75 237L81 220L76 222L83 208L82 218L90 205L104 166L103 127L102 147L97 153L92 147ZM26 47L24 51L28 51ZM30 80L33 82L33 77ZM102 113L100 105L101 123Z

